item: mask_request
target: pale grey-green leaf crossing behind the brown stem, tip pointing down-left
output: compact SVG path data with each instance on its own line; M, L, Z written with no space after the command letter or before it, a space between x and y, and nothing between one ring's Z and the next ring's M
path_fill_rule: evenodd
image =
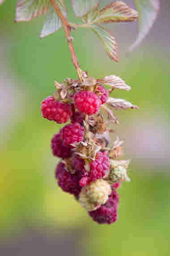
M67 17L67 9L64 5L64 1L57 0L59 4L59 8L61 9L62 13L65 17ZM50 4L50 7L47 12L47 19L43 25L43 30L41 31L40 38L43 38L47 35L53 34L55 31L60 29L62 26L61 20L58 17L57 13L55 12L54 7Z

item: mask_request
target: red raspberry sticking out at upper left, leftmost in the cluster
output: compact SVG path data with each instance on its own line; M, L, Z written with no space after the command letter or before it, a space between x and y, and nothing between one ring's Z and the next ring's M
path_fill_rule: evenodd
M44 118L54 120L58 124L67 123L72 116L71 106L55 101L52 96L43 100L41 110Z

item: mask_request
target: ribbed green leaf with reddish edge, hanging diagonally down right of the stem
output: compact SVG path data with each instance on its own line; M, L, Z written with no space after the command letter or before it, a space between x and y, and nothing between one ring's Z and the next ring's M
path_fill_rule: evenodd
M115 62L118 62L118 47L115 42L115 37L110 31L107 31L101 26L93 25L91 28L98 35L109 57Z

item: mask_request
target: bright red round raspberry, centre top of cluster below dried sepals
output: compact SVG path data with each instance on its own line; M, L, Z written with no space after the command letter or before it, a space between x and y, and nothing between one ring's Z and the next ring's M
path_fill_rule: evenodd
M95 93L86 90L76 92L74 99L78 111L87 115L96 114L102 103Z

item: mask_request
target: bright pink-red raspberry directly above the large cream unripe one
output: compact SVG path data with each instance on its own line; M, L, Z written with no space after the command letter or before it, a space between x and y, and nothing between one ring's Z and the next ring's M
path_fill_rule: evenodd
M109 171L109 168L110 161L107 155L104 152L98 152L95 161L90 163L90 172L85 174L82 173L83 177L80 180L80 185L85 186L92 181L102 179L102 177ZM89 178L87 178L87 176Z

